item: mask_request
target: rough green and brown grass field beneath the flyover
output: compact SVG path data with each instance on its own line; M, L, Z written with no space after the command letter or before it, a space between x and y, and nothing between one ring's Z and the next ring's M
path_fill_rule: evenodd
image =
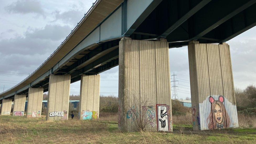
M45 121L0 116L0 143L256 143L256 129L193 131L174 117L173 132L121 132L116 114L98 120ZM183 119L183 118L181 118Z

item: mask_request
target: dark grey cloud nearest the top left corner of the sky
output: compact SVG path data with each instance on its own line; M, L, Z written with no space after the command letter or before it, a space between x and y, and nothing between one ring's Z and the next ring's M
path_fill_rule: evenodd
M37 13L44 16L44 10L39 1L35 0L18 0L5 7L10 13Z

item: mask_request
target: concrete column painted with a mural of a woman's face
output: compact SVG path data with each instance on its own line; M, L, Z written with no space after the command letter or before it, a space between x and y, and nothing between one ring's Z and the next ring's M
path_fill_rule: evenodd
M193 130L238 127L230 47L188 45Z

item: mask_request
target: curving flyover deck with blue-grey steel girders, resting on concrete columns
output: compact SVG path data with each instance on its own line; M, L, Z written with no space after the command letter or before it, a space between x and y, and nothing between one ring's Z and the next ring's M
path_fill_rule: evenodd
M30 76L0 94L13 99L29 87L48 91L50 74L94 75L118 65L119 41L166 38L169 48L220 43L256 25L256 0L97 0L70 35ZM35 47L36 49L36 47Z

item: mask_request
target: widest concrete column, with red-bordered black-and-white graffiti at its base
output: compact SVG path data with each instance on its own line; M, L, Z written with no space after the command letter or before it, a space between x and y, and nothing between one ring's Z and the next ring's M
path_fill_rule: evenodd
M122 131L172 131L169 47L166 39L119 42L119 119Z

